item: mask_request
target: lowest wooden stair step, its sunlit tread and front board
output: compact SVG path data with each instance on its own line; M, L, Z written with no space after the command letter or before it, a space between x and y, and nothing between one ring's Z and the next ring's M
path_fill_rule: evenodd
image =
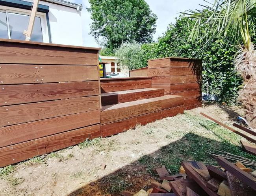
M134 116L153 113L164 109L184 105L184 96L164 95L132 102L117 103L102 107L101 124L115 122Z

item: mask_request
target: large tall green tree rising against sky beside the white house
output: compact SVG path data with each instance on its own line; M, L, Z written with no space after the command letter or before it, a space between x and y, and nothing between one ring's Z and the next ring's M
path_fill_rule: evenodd
M157 16L145 0L89 0L91 34L112 51L123 42L152 41Z

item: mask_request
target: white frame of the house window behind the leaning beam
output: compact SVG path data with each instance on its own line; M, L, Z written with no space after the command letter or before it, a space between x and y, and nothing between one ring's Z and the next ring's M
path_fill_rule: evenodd
M16 13L16 14L22 14L22 15L30 15L30 10L27 9L20 9L16 7L7 7L4 5L0 5L0 11L6 13L6 21L7 21L7 31L8 31L8 38L11 39L10 29L9 29L9 18L8 13ZM50 43L49 39L49 29L47 25L47 19L46 19L46 13L37 12L37 17L41 20L41 29L42 29L42 35L43 35L43 43ZM26 30L26 29L24 29Z

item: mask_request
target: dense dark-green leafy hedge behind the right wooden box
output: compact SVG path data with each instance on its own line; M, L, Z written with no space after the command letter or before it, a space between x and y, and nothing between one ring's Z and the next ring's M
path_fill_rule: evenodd
M242 79L234 70L236 47L220 49L220 44L228 45L227 40L215 39L209 47L201 47L200 38L189 40L194 20L178 18L176 23L169 25L167 31L158 38L158 42L143 44L143 66L147 66L147 59L168 56L201 58L203 60L202 91L216 94L219 102L236 104L239 86ZM203 29L203 27L202 27Z

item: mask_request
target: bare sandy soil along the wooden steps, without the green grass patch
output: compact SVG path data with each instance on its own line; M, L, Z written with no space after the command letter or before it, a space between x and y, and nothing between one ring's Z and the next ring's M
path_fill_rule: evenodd
M239 107L208 103L187 114L200 116L200 112L229 125L238 115L243 115ZM143 163L143 156L161 158L161 148L181 140L191 131L218 140L201 126L186 120L185 114L179 114L99 139L82 149L81 145L76 145L39 160L16 164L15 171L0 176L0 195L98 196L120 195L122 189L147 189L157 178ZM90 185L91 182L95 185Z

